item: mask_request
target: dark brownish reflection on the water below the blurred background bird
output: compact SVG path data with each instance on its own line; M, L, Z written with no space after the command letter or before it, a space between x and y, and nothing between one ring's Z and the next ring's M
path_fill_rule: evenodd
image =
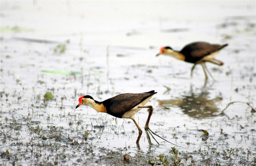
M187 94L169 100L158 100L159 106L178 106L190 117L198 119L218 116L219 108L216 103L222 100L221 96L210 99L208 89L204 86L201 92L193 92L192 85Z

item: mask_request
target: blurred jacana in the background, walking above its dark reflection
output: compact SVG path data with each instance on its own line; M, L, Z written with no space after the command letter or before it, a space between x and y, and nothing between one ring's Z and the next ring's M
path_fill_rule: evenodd
M175 57L178 60L194 63L194 66L192 66L192 69L191 69L191 77L192 77L193 70L195 69L195 66L197 64L201 64L204 70L205 79L207 79L208 78L207 72L211 77L212 75L207 69L205 63L211 62L219 66L223 65L224 63L221 62L220 60L215 59L215 56L221 49L223 49L226 46L227 44L219 45L219 44L210 44L207 42L194 42L184 46L183 49L181 49L181 51L175 51L169 46L163 46L160 48L160 52L156 56L160 54L169 55L169 56Z

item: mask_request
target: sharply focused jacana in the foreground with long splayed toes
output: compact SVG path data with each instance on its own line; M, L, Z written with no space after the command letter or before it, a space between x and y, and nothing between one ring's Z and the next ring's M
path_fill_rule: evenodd
M129 118L129 119L133 120L139 130L139 136L136 141L138 144L140 141L140 137L142 135L142 130L140 129L140 126L137 124L137 122L135 121L134 115L141 109L148 108L148 109L150 109L150 112L148 114L148 119L145 124L145 131L146 131L146 136L148 138L148 143L149 143L149 145L151 145L152 143L151 143L148 133L152 137L153 137L152 134L157 135L154 132L152 132L152 130L149 129L149 127L148 127L148 123L149 123L151 114L153 112L153 107L152 106L144 106L144 105L146 103L148 103L148 101L151 99L151 97L153 97L153 95L156 93L157 92L154 92L154 91L144 92L144 93L124 93L124 94L119 94L115 97L109 98L107 100L104 100L102 102L94 100L93 97L91 97L89 95L84 95L79 98L79 104L76 106L76 109L81 105L86 105L86 106L92 107L97 112L105 112L105 113L111 114L114 117ZM160 136L158 136L158 137L160 137ZM162 137L160 137L160 138L162 138ZM163 140L165 140L165 139L163 139ZM167 140L165 140L165 141L167 141ZM169 142L169 141L167 141L167 142Z

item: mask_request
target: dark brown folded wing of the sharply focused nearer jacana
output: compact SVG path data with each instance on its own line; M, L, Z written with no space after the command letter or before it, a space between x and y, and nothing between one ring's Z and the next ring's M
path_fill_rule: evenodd
M109 98L102 103L107 109L107 113L114 117L122 117L122 115L137 106L146 98L150 97L157 92L150 91L145 93L124 93L115 97Z

